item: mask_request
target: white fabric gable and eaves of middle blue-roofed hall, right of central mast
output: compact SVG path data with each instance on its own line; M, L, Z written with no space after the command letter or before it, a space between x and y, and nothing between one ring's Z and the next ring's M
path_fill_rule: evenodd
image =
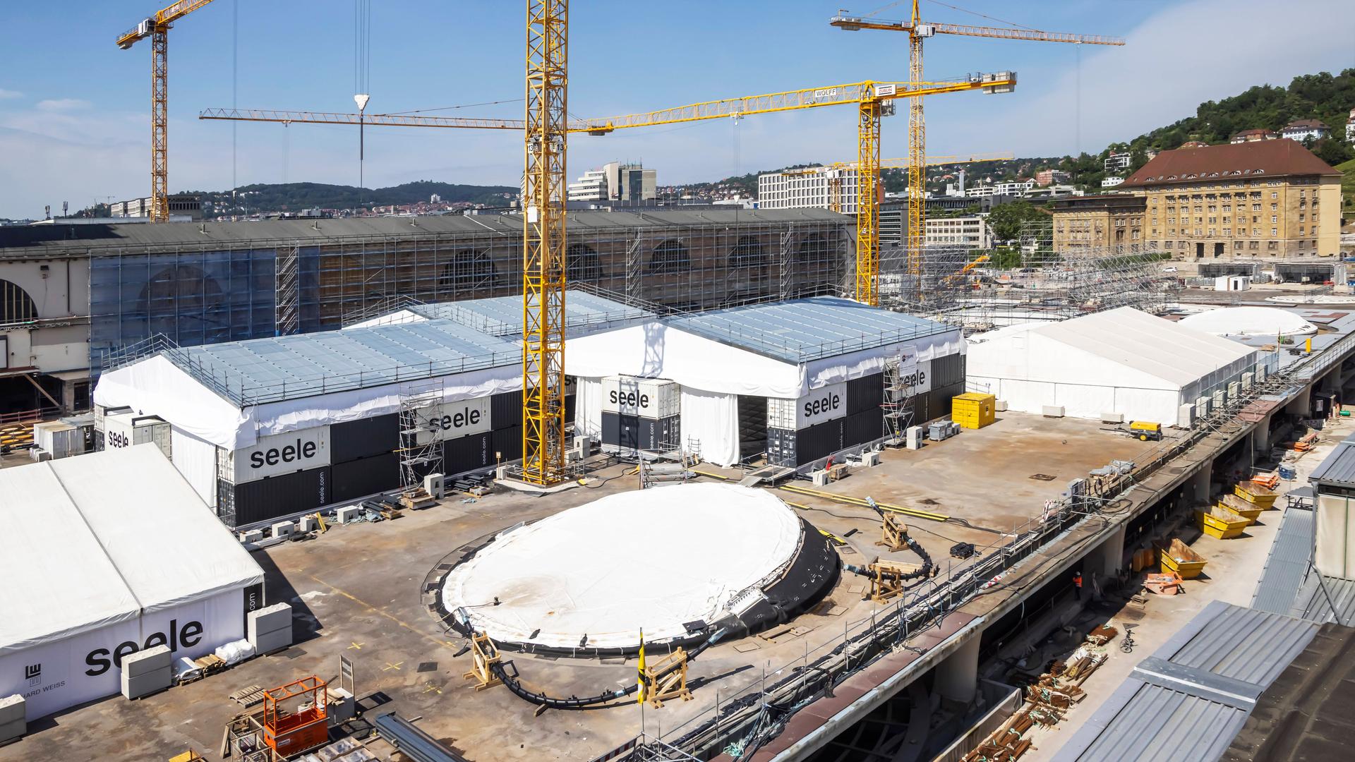
M965 343L959 331L946 331L797 365L654 320L568 339L565 373L671 378L684 389L794 400L828 384L879 373L886 358L901 351L925 361L963 353Z

